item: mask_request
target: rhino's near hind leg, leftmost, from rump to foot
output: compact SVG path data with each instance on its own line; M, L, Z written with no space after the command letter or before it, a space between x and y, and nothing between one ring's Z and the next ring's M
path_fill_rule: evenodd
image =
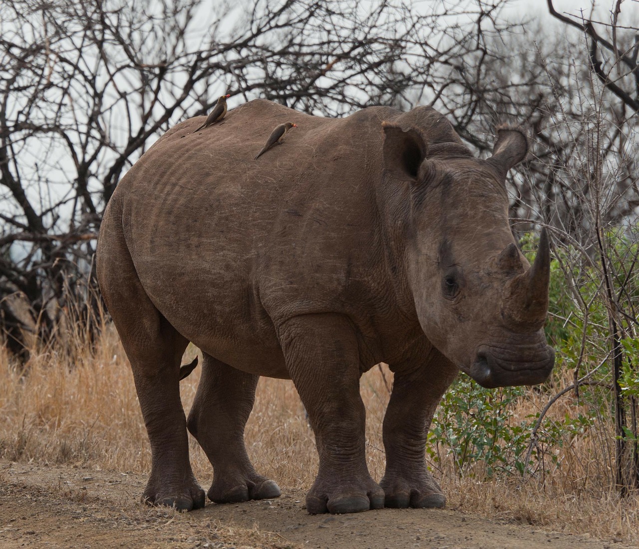
M180 400L180 360L189 342L151 303L121 233L118 235L109 221L105 220L100 233L98 279L131 363L151 444L151 474L143 499L183 511L204 507L204 491L189 462Z

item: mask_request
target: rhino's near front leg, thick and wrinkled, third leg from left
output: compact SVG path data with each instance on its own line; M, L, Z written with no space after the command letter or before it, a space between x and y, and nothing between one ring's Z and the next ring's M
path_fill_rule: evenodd
M319 454L306 495L316 513L358 513L383 507L384 493L366 467L366 411L359 392L355 332L339 314L308 314L279 330L289 374L309 414Z

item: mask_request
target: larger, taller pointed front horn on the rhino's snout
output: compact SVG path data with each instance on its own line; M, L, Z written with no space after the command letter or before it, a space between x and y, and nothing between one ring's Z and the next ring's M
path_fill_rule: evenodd
M541 328L548 313L548 284L550 245L546 228L543 228L532 267L514 277L507 288L504 316L519 325Z

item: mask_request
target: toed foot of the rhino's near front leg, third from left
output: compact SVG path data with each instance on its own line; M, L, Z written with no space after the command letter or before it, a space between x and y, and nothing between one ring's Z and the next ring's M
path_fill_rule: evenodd
M361 513L369 509L383 509L384 492L380 485L369 479L363 486L350 490L331 486L330 490L321 490L321 484L315 482L306 495L306 511L309 514Z

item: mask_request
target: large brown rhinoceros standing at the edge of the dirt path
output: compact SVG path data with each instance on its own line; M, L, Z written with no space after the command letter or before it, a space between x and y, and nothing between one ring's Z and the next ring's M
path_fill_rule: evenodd
M273 127L298 130L258 160ZM213 466L217 503L270 499L243 430L259 376L293 380L319 470L308 513L442 507L424 451L459 370L484 387L543 382L550 252L532 267L508 221L505 177L528 142L498 128L476 159L429 107L341 119L254 100L222 125L171 128L119 182L97 250L98 280L130 360L151 444L144 499L194 509L204 491L187 429ZM182 353L203 353L194 403ZM366 466L360 376L394 373L385 474Z

